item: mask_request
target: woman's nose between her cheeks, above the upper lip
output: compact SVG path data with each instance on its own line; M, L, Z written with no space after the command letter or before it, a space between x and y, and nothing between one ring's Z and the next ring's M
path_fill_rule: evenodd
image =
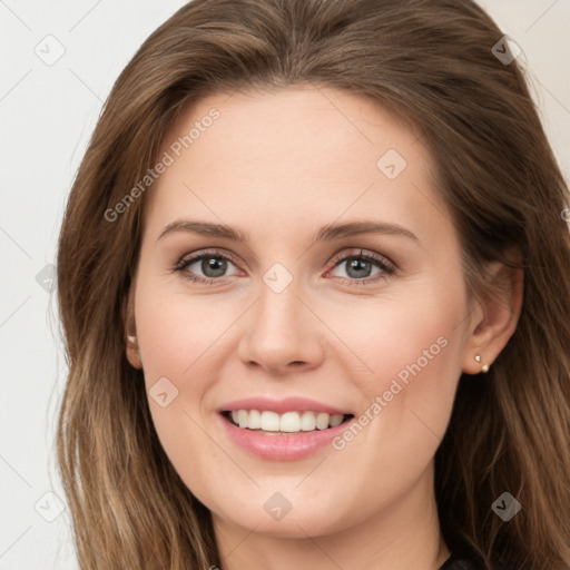
M322 363L323 325L299 293L295 279L281 293L261 283L238 344L237 355L246 366L282 376Z

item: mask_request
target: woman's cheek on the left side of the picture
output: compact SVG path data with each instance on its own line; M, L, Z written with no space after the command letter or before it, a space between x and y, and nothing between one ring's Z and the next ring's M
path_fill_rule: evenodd
M153 422L175 468L200 480L206 476L202 466L215 459L204 431L209 421L203 413L204 396L219 376L216 366L226 360L220 358L224 331L238 314L218 311L206 297L167 294L167 286L151 279L139 283L136 326Z

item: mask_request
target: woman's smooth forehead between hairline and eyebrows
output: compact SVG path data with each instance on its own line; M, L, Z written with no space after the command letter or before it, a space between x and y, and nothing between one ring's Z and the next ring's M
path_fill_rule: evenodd
M330 88L214 94L178 117L165 154L171 164L146 197L145 226L184 215L314 226L343 212L413 220L439 202L416 134L380 105Z

